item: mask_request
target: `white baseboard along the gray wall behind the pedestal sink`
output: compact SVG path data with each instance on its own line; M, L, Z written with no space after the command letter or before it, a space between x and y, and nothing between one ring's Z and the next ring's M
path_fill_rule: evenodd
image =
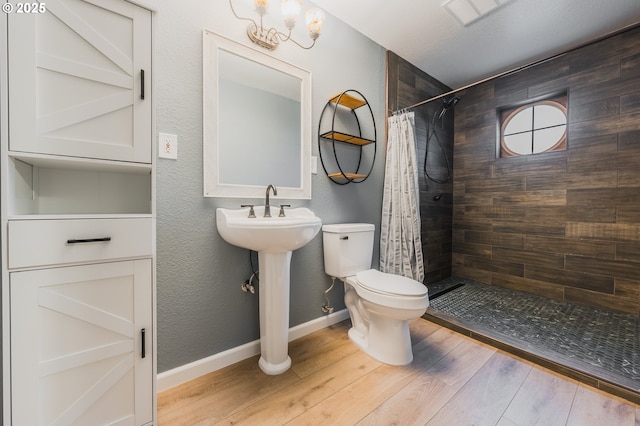
M314 331L329 327L349 318L349 311L343 309L324 317L316 318L304 324L289 329L289 341L311 334ZM193 380L213 371L219 370L243 359L251 358L260 353L260 340L228 349L224 352L208 356L189 364L181 365L172 370L158 374L157 389L162 392L181 383Z

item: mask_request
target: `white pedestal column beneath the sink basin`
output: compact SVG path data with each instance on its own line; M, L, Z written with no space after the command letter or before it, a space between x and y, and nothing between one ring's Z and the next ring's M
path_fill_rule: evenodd
M291 367L289 349L289 279L291 252L258 253L260 267L260 361L266 374Z

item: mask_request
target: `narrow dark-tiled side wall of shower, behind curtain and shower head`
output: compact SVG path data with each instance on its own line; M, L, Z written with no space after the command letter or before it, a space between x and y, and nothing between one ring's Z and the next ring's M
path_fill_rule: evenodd
M393 52L388 52L389 114L451 89L428 74L418 70ZM423 174L427 147L427 130L433 114L439 111L441 101L433 101L413 108L416 125L417 156L420 168L420 216L422 219L422 252L424 255L425 283L451 276L451 236L453 219L453 182L439 184ZM449 164L453 161L453 114L447 113L436 128ZM429 175L438 181L447 176L447 167L440 148L432 139L429 144Z

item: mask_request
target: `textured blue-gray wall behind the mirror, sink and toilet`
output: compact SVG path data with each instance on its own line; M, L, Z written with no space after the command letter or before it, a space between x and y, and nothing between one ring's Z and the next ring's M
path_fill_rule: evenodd
M156 126L158 132L177 134L179 147L178 160L159 159L157 166L158 371L163 372L259 338L258 297L240 291L250 275L249 252L221 239L215 209L262 200L202 196L202 30L250 44L246 23L236 20L223 0L151 4L157 10ZM299 26L304 27L303 22ZM306 42L307 36L301 40ZM369 179L336 185L319 165L312 179L312 200L283 202L311 208L323 223L362 221L378 228L385 146L384 49L328 15L312 50L285 43L270 54L311 71L313 129L326 100L347 89L367 97L378 129L377 158ZM313 144L313 155L318 155L315 130ZM329 283L318 235L293 253L291 326L323 315L320 307ZM336 310L344 308L342 288L337 287L331 294Z

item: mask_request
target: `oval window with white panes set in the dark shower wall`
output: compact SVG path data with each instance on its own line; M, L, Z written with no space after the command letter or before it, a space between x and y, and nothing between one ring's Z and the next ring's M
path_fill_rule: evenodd
M534 102L507 112L503 117L502 157L566 149L567 108L562 103L556 100Z

